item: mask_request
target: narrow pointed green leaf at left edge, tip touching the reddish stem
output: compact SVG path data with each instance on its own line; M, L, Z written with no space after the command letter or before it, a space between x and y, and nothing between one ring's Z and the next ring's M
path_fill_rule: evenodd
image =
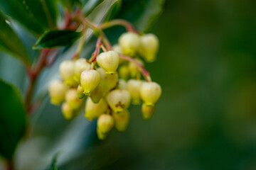
M22 60L25 63L29 63L28 52L26 47L21 42L18 35L14 30L6 23L6 19L0 13L0 48L5 52L14 55L19 60Z

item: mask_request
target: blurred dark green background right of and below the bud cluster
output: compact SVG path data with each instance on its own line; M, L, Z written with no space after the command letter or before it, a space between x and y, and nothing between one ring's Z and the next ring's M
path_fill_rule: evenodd
M20 169L47 164L59 150L60 170L256 169L255 7L253 0L167 0L151 30L159 55L146 64L163 91L151 120L131 106L127 131L99 141L95 121L80 115L69 123L47 98L31 119L31 140L17 150Z

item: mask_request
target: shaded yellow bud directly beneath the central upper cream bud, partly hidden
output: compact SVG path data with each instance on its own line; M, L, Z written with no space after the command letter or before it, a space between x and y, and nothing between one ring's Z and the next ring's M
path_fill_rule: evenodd
M97 69L97 72L100 73L100 84L102 85L103 91L108 92L117 86L118 75L116 72L114 74L106 74L102 68Z

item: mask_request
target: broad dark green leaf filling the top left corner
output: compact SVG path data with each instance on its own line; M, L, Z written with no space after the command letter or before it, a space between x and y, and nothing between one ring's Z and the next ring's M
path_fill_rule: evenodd
M53 0L0 0L0 11L37 35L55 28L58 13Z

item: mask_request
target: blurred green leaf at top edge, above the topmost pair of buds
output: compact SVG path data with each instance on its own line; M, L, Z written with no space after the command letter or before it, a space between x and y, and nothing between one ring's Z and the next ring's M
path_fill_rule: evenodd
M163 11L164 0L123 0L116 18L130 21L142 31L148 31Z

